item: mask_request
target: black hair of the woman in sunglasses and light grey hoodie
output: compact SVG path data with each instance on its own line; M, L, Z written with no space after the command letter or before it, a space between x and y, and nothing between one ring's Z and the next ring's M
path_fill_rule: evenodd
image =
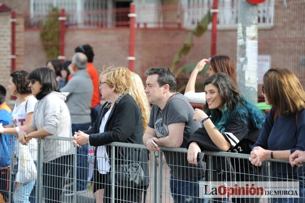
M38 82L42 85L41 91L36 95L36 99L38 100L44 98L52 91L60 92L55 73L47 67L34 69L32 72L30 72L27 78L29 80L38 80Z

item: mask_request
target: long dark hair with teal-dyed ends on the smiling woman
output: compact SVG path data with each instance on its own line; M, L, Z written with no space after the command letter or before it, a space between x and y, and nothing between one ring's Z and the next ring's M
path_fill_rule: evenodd
M229 124L231 115L239 114L244 123L246 123L246 117L252 122L253 128L261 128L265 121L265 115L260 111L252 102L242 96L237 84L225 73L215 73L208 77L204 86L213 84L218 88L218 93L222 98L223 106L221 110L209 109L206 102L204 105L204 111L207 115L212 116L212 121L215 128L221 133Z

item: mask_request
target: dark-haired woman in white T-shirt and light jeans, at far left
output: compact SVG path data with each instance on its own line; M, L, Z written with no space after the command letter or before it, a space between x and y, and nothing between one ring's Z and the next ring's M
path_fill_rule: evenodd
M30 81L27 79L28 73L24 70L14 71L11 73L9 78L9 94L11 96L16 96L17 100L12 114L13 124L4 126L0 128L0 133L5 134L18 134L20 130L25 129L26 126L29 126L32 123L32 115L34 113L34 106L37 102L37 99L31 94L31 89L29 87ZM19 155L19 141L18 137L15 140L15 150L14 155L18 158ZM37 140L32 139L27 146L29 148L30 155L34 161L37 160ZM33 171L28 171L33 173ZM19 174L18 174L19 173ZM14 193L14 202L29 202L30 194L35 185L36 179L25 180L25 177L22 177L24 173L20 171L17 172L16 177L16 191ZM32 193L31 196L34 194ZM31 197L31 202L34 201L34 197Z

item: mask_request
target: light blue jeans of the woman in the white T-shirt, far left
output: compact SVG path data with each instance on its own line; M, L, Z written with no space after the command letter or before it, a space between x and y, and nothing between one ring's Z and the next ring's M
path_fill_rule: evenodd
M28 183L20 183L18 189L13 195L14 203L29 203L30 194L33 190L35 183L36 180L32 180Z

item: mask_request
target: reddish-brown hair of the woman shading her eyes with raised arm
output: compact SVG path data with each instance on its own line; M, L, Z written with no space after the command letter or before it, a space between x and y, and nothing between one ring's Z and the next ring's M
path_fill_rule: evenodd
M214 73L226 73L237 84L236 69L233 60L227 55L216 55L210 60L210 67Z

